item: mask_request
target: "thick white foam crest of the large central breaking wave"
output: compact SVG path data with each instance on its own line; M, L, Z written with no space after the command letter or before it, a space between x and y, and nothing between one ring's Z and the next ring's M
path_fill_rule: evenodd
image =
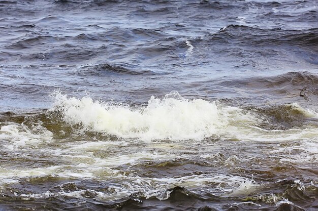
M215 102L186 100L176 91L163 99L152 96L148 105L138 109L57 94L53 110L85 130L143 140L202 140L227 125L227 117Z

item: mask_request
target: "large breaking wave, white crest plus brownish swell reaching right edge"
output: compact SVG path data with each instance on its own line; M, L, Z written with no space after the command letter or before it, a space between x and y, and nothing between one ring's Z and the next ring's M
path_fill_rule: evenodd
M218 101L186 100L175 91L163 99L152 96L147 105L140 107L57 94L50 112L82 131L145 141L311 137L311 133L316 134L314 119L317 118L314 111L296 103L267 109L241 109ZM313 120L311 126L310 119ZM307 132L297 132L300 129Z

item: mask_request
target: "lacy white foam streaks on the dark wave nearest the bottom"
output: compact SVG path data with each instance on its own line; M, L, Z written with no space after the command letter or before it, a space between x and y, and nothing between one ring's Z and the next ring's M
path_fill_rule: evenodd
M114 179L114 178L112 178ZM117 200L129 197L133 193L138 193L143 195L146 199L150 197L156 197L159 200L166 200L169 198L170 188L176 186L182 186L187 188L195 188L193 190L195 193L201 191L202 187L211 187L211 192L216 195L233 195L236 189L244 191L241 184L248 183L249 179L238 177L238 176L229 176L229 175L220 175L220 174L209 174L209 175L192 175L179 178L142 178L142 177L128 177L120 176L116 178L118 183L116 185L108 186L112 191L108 192L99 192L95 190L79 190L66 192L61 186L61 191L59 192L44 192L38 194L20 194L19 197L24 199L30 198L49 198L56 196L66 196L71 198L85 198L87 192L93 195L94 198L98 200ZM256 185L256 184L255 184ZM215 187L216 186L216 187ZM245 194L248 194L245 190Z

